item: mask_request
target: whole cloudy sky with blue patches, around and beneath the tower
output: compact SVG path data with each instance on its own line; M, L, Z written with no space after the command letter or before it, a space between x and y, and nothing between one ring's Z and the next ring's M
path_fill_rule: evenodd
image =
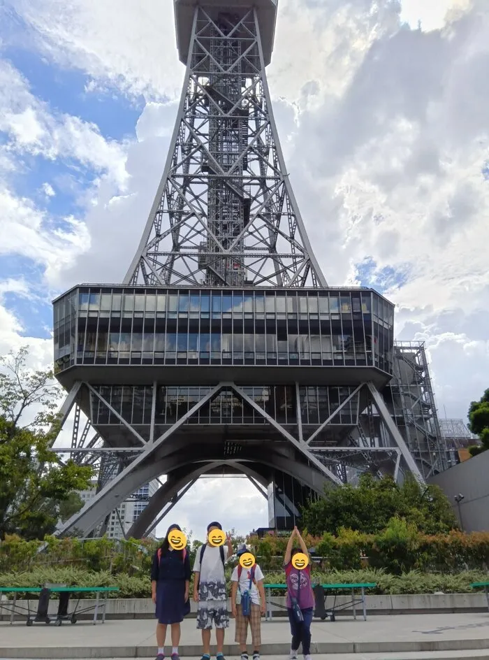
M49 364L52 297L129 265L183 76L172 6L0 0L0 354ZM488 71L487 0L279 0L268 76L317 257L397 304L448 417L489 386ZM172 519L246 532L265 504L203 480Z

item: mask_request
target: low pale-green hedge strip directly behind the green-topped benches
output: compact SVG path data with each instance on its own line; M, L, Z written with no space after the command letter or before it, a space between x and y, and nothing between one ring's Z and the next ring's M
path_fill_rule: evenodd
M385 571L374 569L314 573L314 582L322 584L377 582L377 588L369 591L371 594L433 594L435 591L466 594L473 591L470 587L472 582L482 582L487 579L487 573L483 571L465 571L457 575L418 571L410 571L404 575L389 575ZM121 573L111 575L108 571L95 573L80 568L36 568L26 573L0 574L0 584L6 587L41 587L46 582L78 587L119 587L120 591L111 594L111 598L149 598L151 595L151 584L147 576L130 577ZM284 573L265 572L265 582L282 584ZM283 596L283 591L278 592L277 595ZM84 597L90 598L93 595L84 594Z

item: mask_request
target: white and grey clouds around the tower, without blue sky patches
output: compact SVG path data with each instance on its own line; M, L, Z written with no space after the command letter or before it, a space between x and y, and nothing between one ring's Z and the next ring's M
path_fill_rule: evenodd
M20 218L20 237L9 236L7 249L34 245L37 233L37 258L51 264L51 281L114 282L129 266L166 159L176 114L168 99L180 94L183 76L171 4L16 2L43 55L87 73L87 94L112 85L149 100L138 141L118 145L75 117L47 119L18 77L0 85L20 150L76 154L110 172L63 236L43 210L7 194L7 212ZM421 31L401 27L418 20ZM402 285L388 290L398 306L397 333L425 340L437 401L449 416L465 416L488 387L488 69L486 0L279 6L270 85L282 97L275 102L279 132L312 245L321 245L317 256L332 285L355 282L366 258L379 278L385 268L402 275ZM2 153L8 169L10 154L1 150L0 169ZM22 254L36 258L34 250ZM61 254L68 256L54 268ZM13 337L20 330L9 319ZM196 526L213 505L224 511L217 502L226 488L225 480L199 482L175 515ZM205 508L196 508L199 498ZM243 527L256 526L252 516Z

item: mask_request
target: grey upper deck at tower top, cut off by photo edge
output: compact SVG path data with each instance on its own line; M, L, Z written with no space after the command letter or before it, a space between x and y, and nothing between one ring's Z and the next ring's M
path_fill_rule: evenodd
M226 0L175 0L175 24L180 62L187 64L189 58L196 6L203 8L212 18L219 13L244 16L247 11L255 8L263 48L263 59L265 60L265 66L267 66L272 59L277 3L278 0L228 0L227 2Z

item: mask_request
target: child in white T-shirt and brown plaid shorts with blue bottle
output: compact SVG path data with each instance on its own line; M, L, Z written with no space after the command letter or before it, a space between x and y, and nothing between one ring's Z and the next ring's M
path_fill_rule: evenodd
M248 553L246 545L238 548L238 561ZM231 608L236 619L235 642L240 645L241 660L248 660L247 636L248 624L251 628L253 660L260 660L261 615L265 615L265 588L260 566L251 568L235 567L231 575Z

